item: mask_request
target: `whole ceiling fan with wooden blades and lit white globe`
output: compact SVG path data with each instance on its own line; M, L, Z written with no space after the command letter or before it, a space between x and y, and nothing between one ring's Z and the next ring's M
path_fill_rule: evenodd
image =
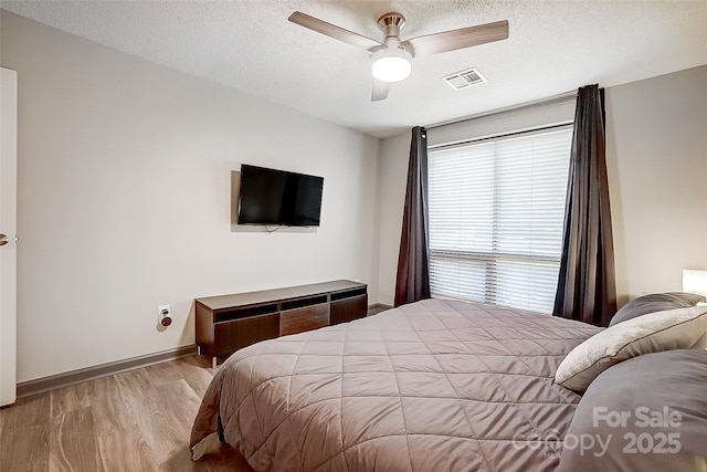
M371 57L371 73L373 75L371 102L384 99L393 82L408 78L412 70L412 57L423 57L508 38L507 20L401 41L400 30L405 25L405 17L401 13L390 12L378 19L378 28L382 30L384 35L382 42L345 30L299 11L291 14L288 20L300 27L373 53Z

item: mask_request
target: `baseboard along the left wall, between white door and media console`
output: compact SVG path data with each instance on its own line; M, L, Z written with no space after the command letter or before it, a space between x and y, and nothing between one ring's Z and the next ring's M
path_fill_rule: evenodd
M63 374L56 374L49 377L42 377L34 380L28 380L18 384L18 398L29 397L61 387L67 387L82 381L93 380L101 377L112 376L114 374L127 370L139 369L141 367L173 360L179 357L197 354L197 346L189 345L178 347L176 349L162 350L160 353L146 354L145 356L130 357L125 360L116 360L114 363L101 364L98 366L85 367L83 369L71 370Z

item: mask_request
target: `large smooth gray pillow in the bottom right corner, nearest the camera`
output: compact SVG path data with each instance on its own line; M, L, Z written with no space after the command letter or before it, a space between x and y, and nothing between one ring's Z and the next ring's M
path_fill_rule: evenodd
M646 354L604 370L577 406L558 471L707 470L706 385L704 349Z

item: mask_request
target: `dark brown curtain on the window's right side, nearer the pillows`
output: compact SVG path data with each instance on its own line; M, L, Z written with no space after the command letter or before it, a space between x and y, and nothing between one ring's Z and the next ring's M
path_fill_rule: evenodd
M616 312L614 248L604 141L604 93L577 96L556 316L606 326Z

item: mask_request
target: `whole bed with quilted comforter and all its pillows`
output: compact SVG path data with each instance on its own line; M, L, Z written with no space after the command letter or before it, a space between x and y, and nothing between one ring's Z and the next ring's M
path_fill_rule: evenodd
M192 459L225 441L256 471L705 472L704 302L644 295L600 328L426 300L262 342L215 374Z

